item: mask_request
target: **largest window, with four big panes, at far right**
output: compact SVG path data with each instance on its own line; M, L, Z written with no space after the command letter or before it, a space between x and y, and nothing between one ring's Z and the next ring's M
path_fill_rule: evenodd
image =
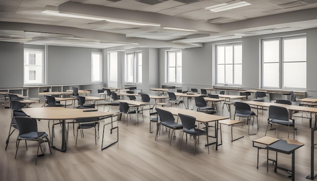
M262 87L306 88L306 37L262 40Z

